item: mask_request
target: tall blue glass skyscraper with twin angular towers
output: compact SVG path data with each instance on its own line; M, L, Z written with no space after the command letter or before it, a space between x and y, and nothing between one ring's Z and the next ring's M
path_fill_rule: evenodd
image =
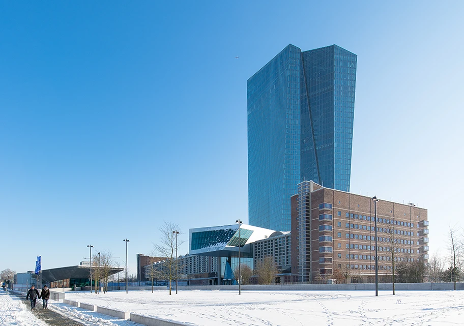
M289 231L302 181L350 191L356 61L290 44L248 79L250 225Z

